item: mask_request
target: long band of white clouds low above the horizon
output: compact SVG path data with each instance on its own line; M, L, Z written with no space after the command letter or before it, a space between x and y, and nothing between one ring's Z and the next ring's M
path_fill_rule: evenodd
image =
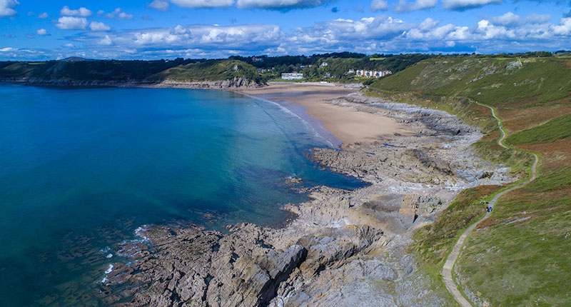
M288 31L271 24L194 24L162 29L88 31L71 36L71 39L74 44L76 41L81 43L81 48L75 46L73 51L84 51L88 53L86 57L100 59L160 59L165 56L216 58L233 54L280 55L335 51L366 54L495 53L568 49L571 18L561 19L557 24L546 21L547 16L504 14L497 16L495 21L492 20L494 18L455 25L443 24L431 18L411 23L390 16L376 16L356 20L333 19ZM527 20L534 20L535 23ZM41 49L36 51L40 52ZM16 58L18 56L13 54L19 54L18 59L24 59L23 52L7 52L0 58ZM50 56L54 58L53 53Z

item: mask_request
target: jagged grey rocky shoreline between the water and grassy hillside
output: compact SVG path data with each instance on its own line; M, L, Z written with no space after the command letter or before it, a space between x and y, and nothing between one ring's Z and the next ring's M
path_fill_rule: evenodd
M363 94L331 101L383 114L414 131L368 144L314 149L308 158L370 183L345 191L310 188L283 209L282 228L241 223L228 233L194 225L141 226L98 283L122 306L443 306L431 279L406 253L415 228L431 223L464 188L515 181L479 158L477 129L443 111ZM299 182L293 180L295 187Z

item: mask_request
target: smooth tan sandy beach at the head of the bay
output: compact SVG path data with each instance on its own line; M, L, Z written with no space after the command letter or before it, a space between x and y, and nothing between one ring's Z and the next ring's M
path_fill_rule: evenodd
M258 89L235 91L260 99L276 101L294 111L301 108L300 112L312 121L311 124L317 123L323 126L326 131L333 134L335 139L342 142L343 146L370 143L383 136L410 134L406 126L390 117L329 103L331 99L355 93L357 89L341 86L271 84Z

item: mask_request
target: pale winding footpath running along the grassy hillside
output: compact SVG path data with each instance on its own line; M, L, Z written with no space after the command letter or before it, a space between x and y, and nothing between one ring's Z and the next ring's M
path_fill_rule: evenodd
M494 118L497 120L497 126L500 128L500 131L502 132L502 136L500 137L500 139L497 140L497 144L499 144L500 146L502 146L505 149L510 149L507 146L505 146L505 144L503 143L504 139L505 139L505 131L502 127L501 119L498 118L495 114L494 108L492 108L491 106L487 106L486 104L480 104L479 102L476 102L476 104L479 104L480 106L485 106L492 111L492 116L494 116ZM513 148L511 148L511 149L513 149ZM517 151L517 149L513 149L513 150ZM535 161L533 162L533 165L531 166L531 177L529 179L527 179L526 181L522 181L520 183L517 183L515 186L512 186L511 188L508 188L505 191L497 193L496 196L494 196L494 198L492 198L492 200L490 201L490 206L494 207L495 203L497 201L497 198L500 198L505 193L513 191L516 188L520 188L521 186L524 186L525 184L529 183L530 181L535 180L536 175L537 175L536 168L537 168L537 163L539 162L539 157L537 156L537 154L533 154L533 156L535 156ZM462 246L464 245L464 241L466 240L468 235L474 230L474 228L476 228L476 226L479 223L481 223L482 221L485 221L487 218L490 217L490 214L491 214L491 212L486 212L484 217L480 218L479 221L476 221L475 223L473 223L470 227L468 227L468 229L466 229L460 235L460 238L458 238L458 241L455 243L454 247L452 248L452 251L448 255L448 258L446 258L446 262L444 263L442 271L440 271L440 275L443 276L443 282L444 282L446 288L448 288L448 292L450 292L450 294L452 294L452 296L454 296L455 300L458 301L458 303L460 303L460 306L463 306L463 307L470 307L470 306L472 306L472 304L458 290L459 286L455 283L455 281L452 277L452 271L454 269L454 265L455 265L456 261L458 260L458 256L460 256L460 251L462 250Z

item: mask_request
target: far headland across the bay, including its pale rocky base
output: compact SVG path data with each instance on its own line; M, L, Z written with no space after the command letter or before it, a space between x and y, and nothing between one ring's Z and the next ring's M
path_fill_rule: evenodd
M14 62L0 68L1 82L32 86L148 86L185 89L258 87L256 69L236 60Z

